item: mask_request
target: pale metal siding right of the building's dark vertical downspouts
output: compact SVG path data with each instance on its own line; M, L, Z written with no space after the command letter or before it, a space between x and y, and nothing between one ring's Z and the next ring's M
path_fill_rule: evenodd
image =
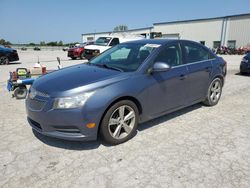
M250 16L230 18L229 23L226 40L236 40L236 47L250 45Z

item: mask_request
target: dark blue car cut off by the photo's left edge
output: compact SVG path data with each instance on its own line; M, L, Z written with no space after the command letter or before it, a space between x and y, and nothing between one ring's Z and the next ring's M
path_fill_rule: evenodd
M15 49L0 45L0 65L7 65L11 61L18 61L19 56Z

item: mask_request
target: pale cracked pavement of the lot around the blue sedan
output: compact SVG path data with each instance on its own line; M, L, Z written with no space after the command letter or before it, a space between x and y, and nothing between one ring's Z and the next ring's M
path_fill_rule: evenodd
M8 71L83 62L63 51L19 52L0 66L0 187L249 187L250 77L242 56L224 56L228 75L217 106L197 104L139 125L130 141L69 142L34 134L24 100L6 91Z

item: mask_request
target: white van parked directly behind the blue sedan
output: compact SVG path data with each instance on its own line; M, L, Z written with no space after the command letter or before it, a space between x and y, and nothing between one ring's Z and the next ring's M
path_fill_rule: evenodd
M104 36L99 37L93 45L85 47L84 57L88 60L101 54L105 50L122 42L144 39L143 36Z

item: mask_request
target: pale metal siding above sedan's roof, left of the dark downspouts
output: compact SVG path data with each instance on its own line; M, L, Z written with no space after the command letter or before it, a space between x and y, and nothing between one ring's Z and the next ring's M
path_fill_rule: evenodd
M162 34L180 34L180 39L206 41L206 46L213 47L213 41L221 40L222 19L208 21L190 21L166 25L155 25L155 32Z

